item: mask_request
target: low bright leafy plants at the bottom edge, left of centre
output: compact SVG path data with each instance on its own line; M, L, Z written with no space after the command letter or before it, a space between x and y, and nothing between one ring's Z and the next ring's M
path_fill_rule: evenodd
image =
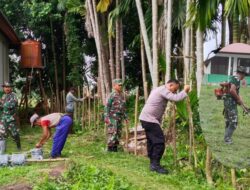
M35 190L53 189L102 189L127 190L134 189L124 178L116 176L109 170L100 169L93 165L72 162L68 172L57 181L45 180L34 187Z

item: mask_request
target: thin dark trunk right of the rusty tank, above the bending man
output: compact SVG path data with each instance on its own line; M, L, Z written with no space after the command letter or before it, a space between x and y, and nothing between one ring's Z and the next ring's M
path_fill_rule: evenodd
M54 63L54 72L55 72L55 87L56 87L56 111L60 110L60 99L59 99L59 86L58 86L58 72L57 72L57 63L56 63L56 49L55 49L55 40L54 40L54 28L52 18L50 16L50 33L51 33L51 47L53 54L53 63Z

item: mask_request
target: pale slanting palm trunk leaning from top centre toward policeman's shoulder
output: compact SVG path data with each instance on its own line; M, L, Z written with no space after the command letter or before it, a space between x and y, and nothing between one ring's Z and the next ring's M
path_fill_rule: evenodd
M139 16L139 21L140 21L140 27L141 27L141 32L142 32L142 37L145 45L145 50L146 50L146 56L148 60L148 67L151 75L151 80L153 80L153 66L152 66L152 56L151 56L151 48L149 45L149 40L148 40L148 34L147 34L147 29L146 29L146 24L143 16L143 10L142 10L142 5L140 0L135 0L136 2L136 8Z

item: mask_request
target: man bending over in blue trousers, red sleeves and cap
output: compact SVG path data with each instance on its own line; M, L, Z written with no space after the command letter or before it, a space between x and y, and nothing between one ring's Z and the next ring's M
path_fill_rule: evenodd
M36 148L41 148L45 144L45 142L51 137L51 128L56 127L56 132L53 137L51 157L60 157L68 137L70 126L72 125L71 117L62 113L52 113L39 117L39 115L35 113L31 116L30 123L31 126L37 125L42 127L43 130L42 138L36 144Z

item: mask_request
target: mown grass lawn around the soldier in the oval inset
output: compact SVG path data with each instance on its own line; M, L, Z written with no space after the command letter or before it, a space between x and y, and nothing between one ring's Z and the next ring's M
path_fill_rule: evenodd
M200 96L201 126L212 153L225 166L248 168L250 166L250 115L243 116L238 106L239 123L233 134L233 144L224 143L225 122L223 100L217 100L214 89L218 86L203 86ZM241 88L240 95L250 107L250 88Z

